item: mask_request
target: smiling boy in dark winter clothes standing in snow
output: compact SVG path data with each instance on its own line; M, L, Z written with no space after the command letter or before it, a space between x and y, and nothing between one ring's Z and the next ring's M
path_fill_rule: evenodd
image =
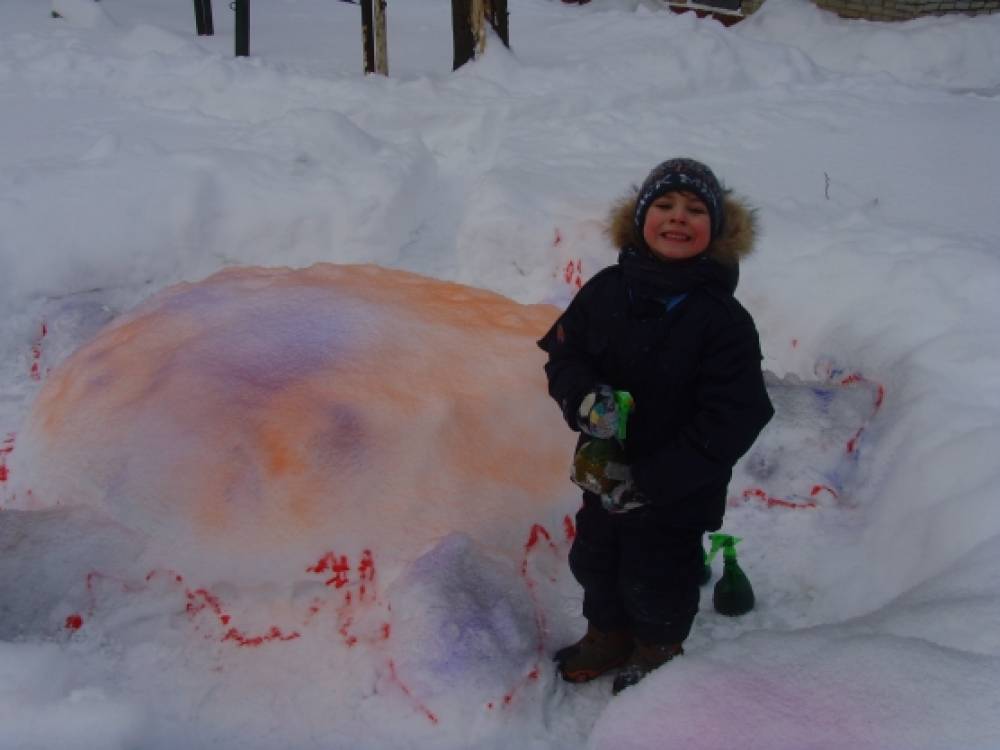
M683 653L702 536L721 527L733 465L774 412L757 330L733 296L753 212L704 164L670 159L614 207L609 234L617 265L583 286L539 346L581 443L614 434L615 390L635 399L625 471L602 495L585 490L576 516L569 562L587 632L556 654L571 682L621 667L617 693Z

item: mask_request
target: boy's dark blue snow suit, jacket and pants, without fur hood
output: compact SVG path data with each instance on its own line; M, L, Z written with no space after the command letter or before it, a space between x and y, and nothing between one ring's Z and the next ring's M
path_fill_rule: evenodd
M711 250L711 246L710 246ZM626 247L538 342L570 428L598 384L635 398L626 455L648 504L609 513L584 493L570 566L583 614L643 643L681 643L698 609L702 536L718 529L732 468L773 416L735 262L664 262Z

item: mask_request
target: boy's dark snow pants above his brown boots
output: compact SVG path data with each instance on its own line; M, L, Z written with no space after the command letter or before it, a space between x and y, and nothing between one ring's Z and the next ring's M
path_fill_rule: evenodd
M654 506L608 513L584 493L570 570L583 616L598 630L630 628L642 643L681 643L698 612L704 529L671 525Z

